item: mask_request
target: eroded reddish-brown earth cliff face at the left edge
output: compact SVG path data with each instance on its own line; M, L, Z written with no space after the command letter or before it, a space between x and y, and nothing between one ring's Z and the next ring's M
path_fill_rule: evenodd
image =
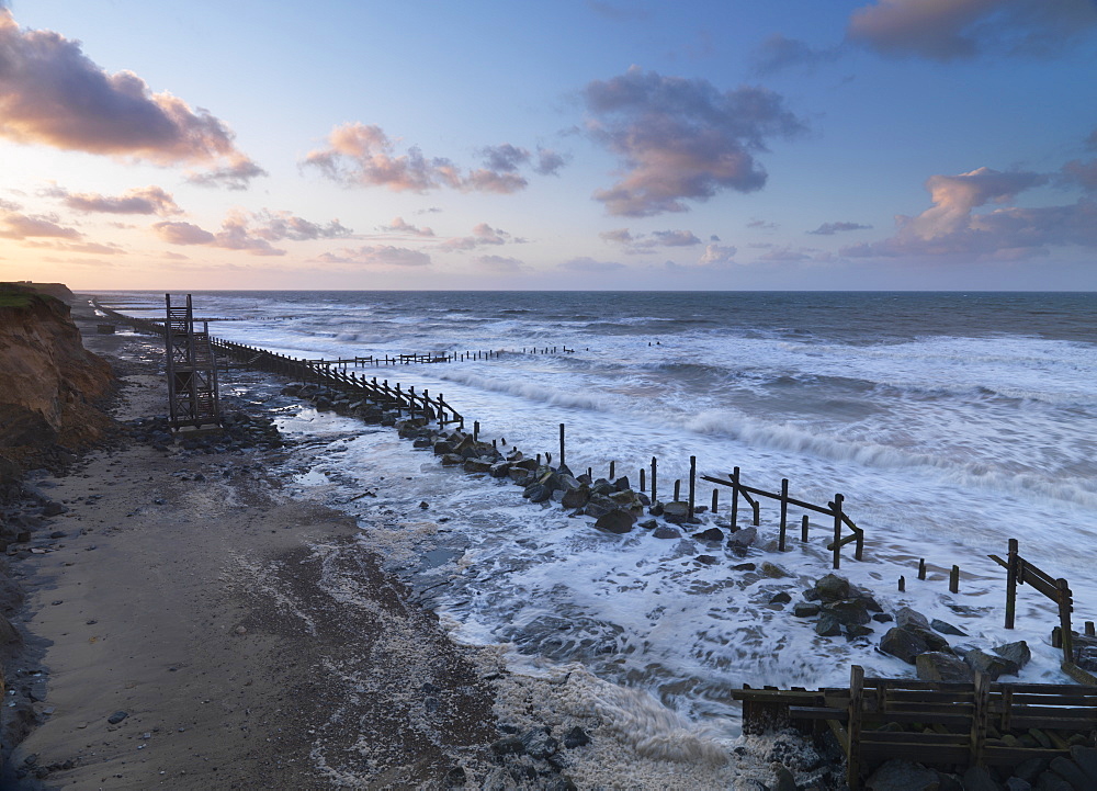
M0 285L0 454L18 461L53 443L99 439L109 420L93 402L113 382L110 366L84 350L68 305Z

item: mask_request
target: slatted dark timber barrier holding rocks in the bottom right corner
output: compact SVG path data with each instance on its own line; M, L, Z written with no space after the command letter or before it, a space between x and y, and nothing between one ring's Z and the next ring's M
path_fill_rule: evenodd
M1097 738L1097 688L997 683L982 674L974 683L864 678L853 665L849 689L745 686L732 698L743 701L747 734L829 726L846 754L853 791L862 776L891 758L961 771L1011 768L1029 758L1070 757L1072 745L1092 746Z

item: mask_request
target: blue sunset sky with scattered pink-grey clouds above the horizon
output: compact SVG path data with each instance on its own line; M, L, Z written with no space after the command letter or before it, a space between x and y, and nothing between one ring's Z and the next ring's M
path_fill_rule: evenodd
M1097 0L0 0L0 280L1097 291Z

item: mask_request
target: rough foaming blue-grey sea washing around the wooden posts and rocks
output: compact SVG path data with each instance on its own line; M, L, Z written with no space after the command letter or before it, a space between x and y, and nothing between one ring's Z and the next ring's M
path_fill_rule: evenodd
M162 293L101 297L162 315ZM214 335L297 358L500 352L348 370L443 395L505 451L558 461L563 423L576 473L607 476L612 463L635 488L656 457L660 499L676 479L686 495L691 457L698 476L738 467L767 491L788 479L803 501L840 494L864 552L859 562L845 547L839 574L887 612L912 607L952 624L964 633L949 637L954 646L1025 640L1025 680L1067 681L1051 645L1058 610L1022 586L1005 630L1005 570L988 555L1004 557L1017 539L1022 557L1070 581L1075 629L1097 619L1097 294L241 291L193 301ZM814 619L791 613L832 572L826 517L808 515L802 542L805 511L790 508L779 552L779 506L759 498L758 541L740 556L691 536L730 518L730 489L699 481L699 506L722 488L717 512L681 538L607 533L530 504L509 482L442 467L392 429L272 397L285 400L282 429L308 448L306 466L298 457L282 471L291 490L353 513L363 542L455 640L500 646L517 670L580 663L726 735L739 716L728 692L744 683L845 686L853 664L914 675L877 647L891 624L823 637ZM737 527L749 522L740 505ZM782 592L792 602L774 601Z

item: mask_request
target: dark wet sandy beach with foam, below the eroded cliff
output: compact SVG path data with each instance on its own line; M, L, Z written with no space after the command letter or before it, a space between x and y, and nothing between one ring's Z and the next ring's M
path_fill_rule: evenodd
M121 370L115 418L161 414L155 344L91 335L80 305L73 318ZM267 380L241 375L245 397L248 376ZM27 641L10 686L30 693L38 721L5 765L15 788L772 778L772 739L725 754L581 667L518 676L500 649L454 643L353 518L284 490L273 473L293 448L206 454L140 439L35 478L65 511L9 558L26 589ZM587 744L567 742L576 728Z

